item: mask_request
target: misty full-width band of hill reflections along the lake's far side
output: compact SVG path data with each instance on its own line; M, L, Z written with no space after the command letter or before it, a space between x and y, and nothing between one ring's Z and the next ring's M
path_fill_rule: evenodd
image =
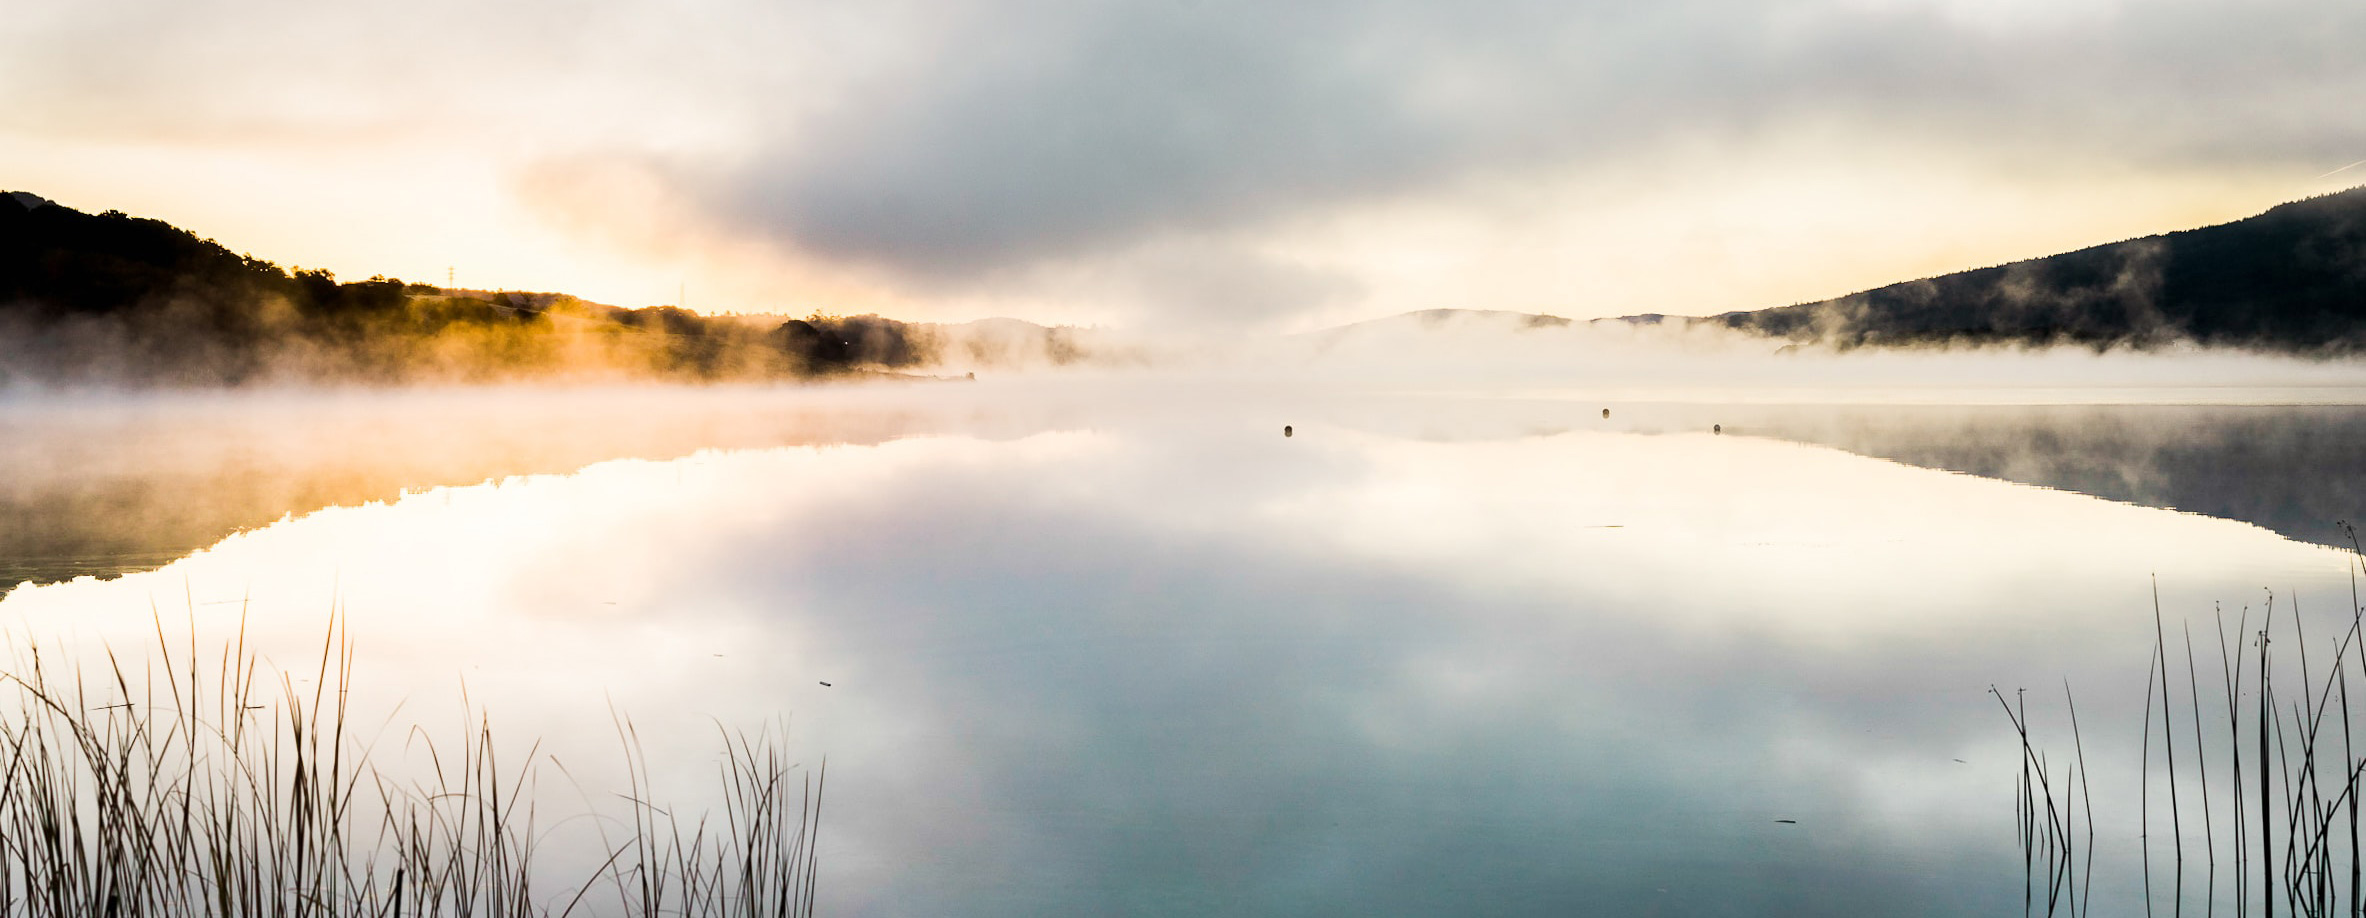
M1010 438L1183 414L1389 438L1763 435L2347 544L2366 407L1772 407L989 386L175 395L0 405L0 594L151 570L234 532L407 490L700 450Z

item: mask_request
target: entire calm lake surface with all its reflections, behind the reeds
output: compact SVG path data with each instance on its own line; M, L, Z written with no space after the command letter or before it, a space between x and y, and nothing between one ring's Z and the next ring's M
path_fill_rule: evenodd
M2013 913L1990 688L2068 681L2127 913L2155 591L2207 667L2354 608L2366 409L2243 400L17 397L0 622L300 679L341 613L357 722L539 738L551 812L615 809L615 717L691 809L783 729L830 916Z

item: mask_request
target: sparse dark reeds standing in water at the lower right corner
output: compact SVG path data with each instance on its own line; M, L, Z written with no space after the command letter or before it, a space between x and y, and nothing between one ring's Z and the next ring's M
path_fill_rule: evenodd
M2349 530L2349 556L2366 573L2366 551ZM2146 913L2295 918L2366 913L2366 849L2359 795L2366 793L2366 606L2357 587L2340 634L2316 636L2286 601L2269 594L2257 627L2245 606L2231 620L2215 613L2217 672L2210 639L2179 639L2153 601L2153 653L2144 686L2144 764L2136 778ZM2177 660L2177 655L2184 660ZM2210 679L2203 679L2210 672ZM2359 700L2352 710L2352 672ZM2184 677L2184 679L2179 679ZM2205 691L2207 688L2207 691ZM2077 703L2063 684L2070 748L2054 755L2032 738L2028 700L2004 705L2021 738L2016 826L2028 913L2084 916L2094 909L2094 778ZM2359 715L2359 717L2354 717ZM2089 781L2094 778L2094 781ZM2165 819L2163 819L2165 816Z

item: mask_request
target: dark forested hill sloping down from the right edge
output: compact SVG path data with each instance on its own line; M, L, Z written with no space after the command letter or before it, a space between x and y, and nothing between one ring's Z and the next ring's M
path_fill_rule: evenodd
M2170 232L1706 322L1853 345L2366 350L2366 187Z

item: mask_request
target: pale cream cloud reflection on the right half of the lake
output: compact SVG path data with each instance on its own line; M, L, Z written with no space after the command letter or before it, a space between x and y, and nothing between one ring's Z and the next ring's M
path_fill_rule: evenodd
M2165 521L1779 440L1363 438L1358 452L1365 476L1294 494L1282 518L1332 521L1323 532L1334 544L1391 565L1491 591L1597 596L1599 610L1661 627L1793 641L1980 632L2051 618L2051 603L2118 599L2153 570L2309 556L2241 523ZM2080 551L2037 554L2032 539ZM2340 573L2331 556L2326 568ZM1685 599L1656 601L1668 584Z

